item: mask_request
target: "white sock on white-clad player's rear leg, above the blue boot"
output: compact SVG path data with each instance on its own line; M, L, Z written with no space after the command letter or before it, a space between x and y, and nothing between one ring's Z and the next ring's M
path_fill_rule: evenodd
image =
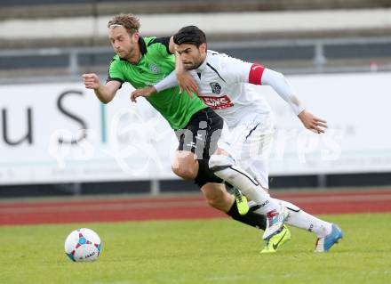
M284 207L288 208L289 216L285 220L285 223L299 229L313 231L318 238L323 238L331 232L331 223L316 218L314 215L308 214L306 211L301 210L299 207L291 204L290 202L280 199L275 200L281 202Z

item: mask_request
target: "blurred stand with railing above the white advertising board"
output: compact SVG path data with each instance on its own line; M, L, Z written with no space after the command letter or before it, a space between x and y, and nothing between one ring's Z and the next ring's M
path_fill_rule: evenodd
M285 73L391 68L391 3L386 0L0 4L0 82L32 75L76 77L92 68L106 72L113 53L105 27L117 12L140 14L144 35L166 36L195 23L208 34L211 49ZM50 61L42 61L42 55Z

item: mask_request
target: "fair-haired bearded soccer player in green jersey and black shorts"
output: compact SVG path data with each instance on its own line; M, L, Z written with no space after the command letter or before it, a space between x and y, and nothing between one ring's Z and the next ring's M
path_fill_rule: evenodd
M112 101L125 82L136 88L155 85L158 89L157 82L175 69L172 37L140 37L139 28L140 22L133 15L116 15L108 22L108 37L116 52L109 66L108 80L102 85L96 74L83 75L85 87L93 89L100 101ZM175 165L172 166L173 172L186 180L194 180L212 207L239 222L265 229L264 216L251 211L244 215L239 214L236 206L239 201L235 201L235 198L227 193L222 180L209 169L209 153L216 149L219 139L219 135L213 134L219 134L222 129L222 118L204 105L196 95L191 98L179 93L180 88L175 86L147 99L169 122L179 138L180 145L174 159ZM206 137L200 137L199 130L204 132L205 129ZM204 140L204 147L197 149L200 138Z

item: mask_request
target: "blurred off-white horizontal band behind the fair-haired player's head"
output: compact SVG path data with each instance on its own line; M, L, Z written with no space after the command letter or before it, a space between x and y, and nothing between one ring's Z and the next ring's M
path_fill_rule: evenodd
M339 31L391 27L391 9L346 9L273 12L213 12L139 14L143 35L167 37L181 27L196 25L207 35L232 33L278 33ZM227 25L232 19L240 25ZM108 37L111 17L72 17L55 19L12 19L0 21L0 40L68 37ZM308 25L308 22L311 24ZM180 26L179 24L180 23ZM95 26L97 25L97 27ZM26 28L28 27L28 28ZM81 28L82 27L82 28Z

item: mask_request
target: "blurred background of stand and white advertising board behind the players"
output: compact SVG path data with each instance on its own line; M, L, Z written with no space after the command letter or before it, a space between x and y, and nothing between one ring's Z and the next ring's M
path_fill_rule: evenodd
M171 173L175 139L146 103L131 105L129 87L106 106L84 89L84 72L106 78L106 24L118 12L138 15L144 36L198 25L209 48L283 72L308 109L328 120L329 134L303 133L283 101L260 90L279 134L272 189L391 183L389 0L0 5L2 198L198 191Z

